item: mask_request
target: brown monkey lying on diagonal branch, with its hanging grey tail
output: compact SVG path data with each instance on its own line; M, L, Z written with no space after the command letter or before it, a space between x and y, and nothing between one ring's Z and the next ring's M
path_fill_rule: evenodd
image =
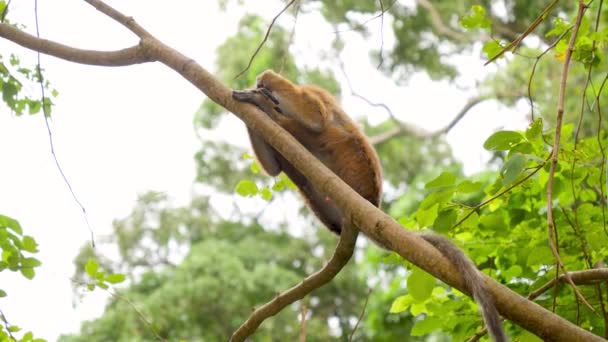
M380 207L382 169L378 154L330 93L315 85L296 85L274 71L266 70L257 77L254 89L235 90L232 97L257 106L361 197ZM247 130L254 153L266 173L276 176L284 172L319 220L340 235L346 221L345 213L264 137L250 128ZM473 262L441 235L424 233L420 237L437 248L462 275L493 340L507 341L492 296Z

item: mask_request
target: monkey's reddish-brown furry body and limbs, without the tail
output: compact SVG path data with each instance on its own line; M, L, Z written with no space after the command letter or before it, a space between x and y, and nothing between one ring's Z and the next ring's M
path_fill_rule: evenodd
M258 77L258 88L235 92L234 97L253 103L293 135L325 166L373 205L380 205L382 174L378 155L336 99L325 90L298 86L271 70ZM281 171L298 186L308 206L334 233L340 234L343 214L257 133L249 130L253 150L271 176Z

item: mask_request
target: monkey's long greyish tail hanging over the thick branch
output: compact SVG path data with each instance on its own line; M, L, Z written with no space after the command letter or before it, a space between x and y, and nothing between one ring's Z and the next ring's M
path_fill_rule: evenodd
M466 288L471 292L481 310L488 333L495 342L507 342L507 336L500 321L500 315L494 305L494 299L488 291L481 273L475 264L453 242L441 235L424 233L421 237L441 252L460 272Z

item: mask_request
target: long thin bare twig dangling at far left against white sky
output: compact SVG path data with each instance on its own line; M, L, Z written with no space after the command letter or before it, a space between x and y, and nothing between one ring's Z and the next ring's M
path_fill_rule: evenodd
M40 38L40 26L38 24L38 0L34 1L34 19L36 22L36 37ZM80 202L80 200L78 199L78 196L76 196L76 192L74 192L74 189L72 188L72 184L70 184L70 181L68 180L68 177L65 175L65 172L63 172L63 168L61 167L61 164L59 163L59 159L57 158L57 154L55 152L55 146L53 144L53 133L51 131L51 125L49 123L49 118L51 117L51 114L49 113L51 100L47 99L47 97L44 93L44 76L42 75L42 66L41 66L41 62L40 62L40 51L36 52L36 58L37 58L36 74L38 76L38 82L40 83L42 114L44 116L44 124L46 125L47 134L49 136L49 146L51 147L51 155L53 156L53 160L55 161L55 166L57 167L57 171L59 171L61 178L63 178L63 182L65 183L65 185L67 185L68 190L70 190L70 193L72 194L72 198L74 199L74 202L76 202L76 204L80 207L80 210L82 211L82 217L84 218L84 222L87 225L87 229L89 230L89 233L91 234L91 246L93 246L93 248L95 248L95 233L93 232L93 229L91 228L91 224L89 223L89 217L87 215L87 211L84 208L84 205L82 204L82 202ZM48 100L48 105L47 105L47 100Z

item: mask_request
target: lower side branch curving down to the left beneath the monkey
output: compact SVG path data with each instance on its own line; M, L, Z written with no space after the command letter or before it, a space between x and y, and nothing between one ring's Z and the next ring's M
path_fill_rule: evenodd
M359 231L352 225L345 225L340 240L329 262L319 271L311 274L298 285L277 295L273 300L253 311L249 319L234 332L231 342L244 341L268 317L281 312L289 304L304 298L312 291L329 283L346 266L353 255Z

